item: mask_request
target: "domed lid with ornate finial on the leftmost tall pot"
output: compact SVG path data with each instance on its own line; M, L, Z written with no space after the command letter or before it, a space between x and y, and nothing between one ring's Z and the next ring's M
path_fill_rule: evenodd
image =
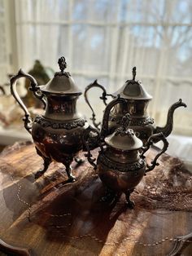
M55 73L49 82L45 86L39 86L43 93L56 94L56 95L81 95L81 90L76 86L71 74L65 72L67 63L64 57L58 60L60 72Z

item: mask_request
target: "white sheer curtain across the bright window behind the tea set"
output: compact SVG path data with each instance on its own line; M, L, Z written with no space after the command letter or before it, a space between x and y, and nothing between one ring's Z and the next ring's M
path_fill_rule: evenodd
M16 0L18 62L28 71L38 59L57 71L64 55L82 90L98 78L109 92L137 66L137 78L154 96L157 125L182 98L188 108L177 109L174 131L192 135L191 13L190 0ZM100 94L93 91L92 102L102 116ZM90 116L83 97L80 103Z

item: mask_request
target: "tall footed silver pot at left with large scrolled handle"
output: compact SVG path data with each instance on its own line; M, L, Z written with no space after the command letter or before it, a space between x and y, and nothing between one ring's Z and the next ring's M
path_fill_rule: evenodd
M75 179L70 165L73 158L81 161L76 155L82 150L82 135L89 125L76 111L76 100L82 93L70 73L64 71L67 67L65 58L61 57L58 63L60 72L55 73L45 86L37 86L36 80L20 69L11 77L11 94L24 110L24 127L32 135L37 154L44 161L44 168L37 171L36 178L45 173L51 161L58 161L66 167L68 180L72 182ZM20 77L29 79L29 90L46 108L45 113L33 121L16 91L16 81Z

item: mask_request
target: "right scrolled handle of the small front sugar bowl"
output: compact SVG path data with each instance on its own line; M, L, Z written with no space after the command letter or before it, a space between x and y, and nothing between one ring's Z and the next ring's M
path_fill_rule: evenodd
M151 145L156 141L156 139L158 139L158 141L162 140L164 143L164 147L155 156L154 160L151 161L151 166L146 165L147 167L146 172L153 170L155 166L159 166L157 159L160 157L160 155L162 155L168 149L168 140L165 138L164 134L160 132L159 134L151 135L151 137L147 140L146 147L142 148L143 151L142 151L141 157L145 158L143 154L151 147Z

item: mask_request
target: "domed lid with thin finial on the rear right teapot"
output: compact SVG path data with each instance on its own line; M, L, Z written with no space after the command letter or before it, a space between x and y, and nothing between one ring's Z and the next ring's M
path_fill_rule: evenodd
M142 85L142 82L136 81L136 67L133 67L133 79L127 80L124 85L120 88L120 90L117 90L114 94L120 95L120 98L123 99L152 99L152 96L148 94L144 86Z

